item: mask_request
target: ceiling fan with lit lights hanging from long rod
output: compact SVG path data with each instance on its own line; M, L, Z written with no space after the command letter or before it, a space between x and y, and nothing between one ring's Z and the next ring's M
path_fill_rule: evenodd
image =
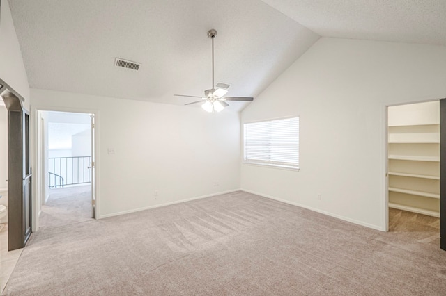
M212 39L212 88L209 90L204 91L204 97L197 97L197 96L187 96L184 94L174 94L174 96L177 97L193 97L193 98L201 98L200 101L193 101L192 103L188 103L185 105L192 105L192 104L198 104L203 103L201 107L208 111L208 112L220 112L229 104L226 103L226 101L252 101L254 98L252 97L224 97L226 92L228 92L227 88L229 88L229 85L225 85L224 83L218 83L217 88L215 88L214 84L214 38L217 35L217 31L214 29L211 29L208 31L208 38ZM225 88L218 87L219 85L225 85Z

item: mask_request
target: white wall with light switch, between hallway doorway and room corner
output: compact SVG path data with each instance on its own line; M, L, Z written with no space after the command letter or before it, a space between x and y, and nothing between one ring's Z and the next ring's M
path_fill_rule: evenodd
M98 217L240 188L238 113L50 90L31 96L33 114L96 114Z

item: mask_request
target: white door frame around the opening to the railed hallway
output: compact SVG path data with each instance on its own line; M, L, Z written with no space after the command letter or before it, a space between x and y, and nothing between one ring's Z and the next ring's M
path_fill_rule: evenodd
M97 151L99 151L99 110L97 109L86 109L86 108L70 108L70 107L61 107L61 106L32 106L31 105L31 114L32 114L32 120L31 120L31 151L33 151L33 157L31 161L31 165L34 168L33 172L36 172L36 181L33 182L33 215L32 215L32 225L33 229L32 231L38 231L40 225L39 225L39 215L40 215L40 209L42 206L42 192L41 188L38 188L40 186L37 186L38 183L42 183L43 180L45 180L45 176L43 176L43 161L42 161L42 155L43 155L43 147L42 145L38 145L41 143L41 133L39 129L40 125L40 112L41 111L48 111L48 112L68 112L68 113L86 113L86 114L93 114L95 116L95 133L94 133L94 143L92 142L92 149L95 151L95 168L92 170L93 176L92 178L95 180L95 188L94 192L91 192L91 195L95 197L95 219L98 218L99 208L100 208L100 182L99 182L99 174L100 174L100 161L99 161L99 154ZM45 134L45 136L48 136Z

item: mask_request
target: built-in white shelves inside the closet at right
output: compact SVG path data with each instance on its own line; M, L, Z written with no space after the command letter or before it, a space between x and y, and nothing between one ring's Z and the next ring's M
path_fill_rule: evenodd
M439 102L388 108L389 206L440 215Z

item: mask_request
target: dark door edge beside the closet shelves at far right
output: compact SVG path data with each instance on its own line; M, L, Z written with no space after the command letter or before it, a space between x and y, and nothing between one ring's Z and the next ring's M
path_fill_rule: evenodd
M446 99L440 99L440 247L446 250Z

